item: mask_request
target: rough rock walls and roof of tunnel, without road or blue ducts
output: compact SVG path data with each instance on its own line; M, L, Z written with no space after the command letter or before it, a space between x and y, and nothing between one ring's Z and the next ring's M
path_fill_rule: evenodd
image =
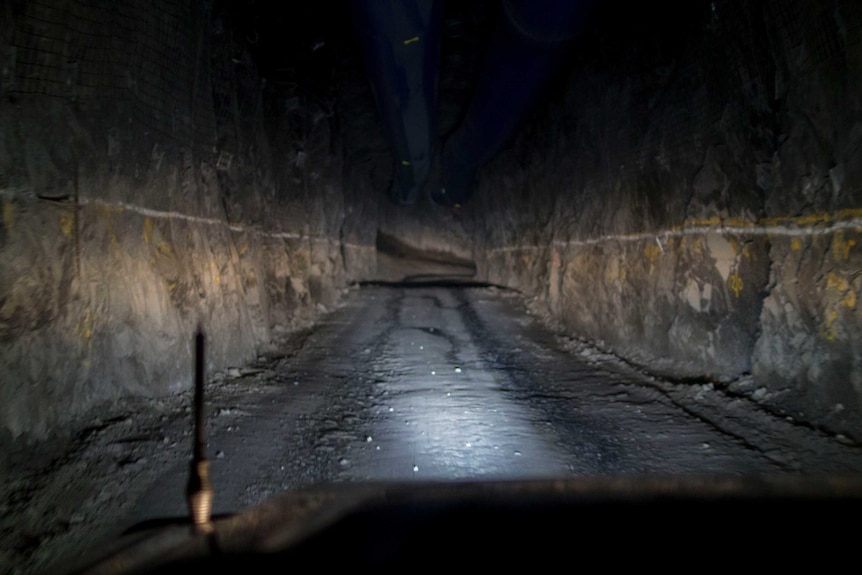
M346 18L320 39L296 8L273 46L234 3L154 6L0 3L0 440L176 392L198 323L211 367L255 357L392 237L629 361L862 441L858 3L598 3L460 215L381 207ZM441 135L493 3L448 10Z

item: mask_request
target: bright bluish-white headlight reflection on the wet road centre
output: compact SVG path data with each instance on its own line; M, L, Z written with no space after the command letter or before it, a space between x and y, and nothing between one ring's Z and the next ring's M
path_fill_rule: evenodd
M411 319L428 325L441 318ZM447 320L447 330L399 330L376 358L373 462L355 471L381 480L568 475L546 426L501 388L505 373L461 339L466 330L450 335L458 317Z

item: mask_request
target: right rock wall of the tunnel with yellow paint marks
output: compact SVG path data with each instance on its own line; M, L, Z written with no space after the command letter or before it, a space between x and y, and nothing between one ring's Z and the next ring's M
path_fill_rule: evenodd
M482 172L480 274L653 371L862 440L862 5L687 4L594 14Z

